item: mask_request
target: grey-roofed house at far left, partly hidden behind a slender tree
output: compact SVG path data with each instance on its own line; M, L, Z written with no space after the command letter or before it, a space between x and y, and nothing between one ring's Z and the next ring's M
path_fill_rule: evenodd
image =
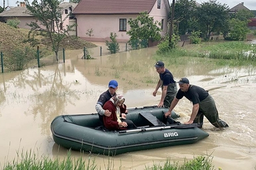
M76 7L76 3L68 3L64 2L60 4L60 7L62 9L62 19L67 19L61 24L61 26L64 28L68 25L73 25L76 23L76 19L70 15L73 11L73 8ZM29 14L26 13L26 4L21 2L20 6L17 6L15 8L11 8L8 11L4 11L0 13L0 21L6 23L9 19L17 18L20 20L19 28L25 28L30 29L29 26L26 25L26 23L31 23L32 21L35 21L35 18ZM76 28L73 28L73 31L70 31L71 35L76 35Z

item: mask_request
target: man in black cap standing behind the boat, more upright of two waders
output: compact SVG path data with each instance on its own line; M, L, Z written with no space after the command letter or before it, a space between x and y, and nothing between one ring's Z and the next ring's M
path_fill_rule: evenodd
M172 73L164 67L164 63L162 61L156 62L154 66L157 73L159 73L160 79L155 91L153 92L153 96L156 96L157 90L161 87L162 95L157 107L169 108L177 93L176 82L173 79Z

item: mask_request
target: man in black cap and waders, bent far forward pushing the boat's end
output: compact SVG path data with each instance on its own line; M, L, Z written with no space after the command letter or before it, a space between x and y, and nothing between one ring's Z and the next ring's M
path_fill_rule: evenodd
M181 78L177 83L179 83L180 89L172 101L169 111L165 113L165 117L171 115L179 100L185 96L193 104L192 114L185 124L199 123L202 127L205 116L215 127L228 127L226 122L219 119L215 102L206 90L196 85L190 85L189 79L186 77Z

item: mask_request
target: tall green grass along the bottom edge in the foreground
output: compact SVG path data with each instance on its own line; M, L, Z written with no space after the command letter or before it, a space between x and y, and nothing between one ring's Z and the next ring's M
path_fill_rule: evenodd
M17 159L12 162L8 162L4 165L3 170L101 170L97 168L95 158L86 158L81 156L78 159L71 158L71 151L67 153L67 157L64 160L50 159L48 156L37 156L32 153L31 150L27 152L21 151L17 153ZM1 166L0 166L1 167ZM108 157L108 162L104 162L105 170L121 170L120 167L114 166L113 157ZM2 167L1 167L2 168ZM212 165L212 156L196 156L192 160L187 160L183 164L178 162L171 162L170 158L167 158L163 166L160 164L153 164L152 167L145 167L144 170L215 170ZM221 170L221 168L218 168Z

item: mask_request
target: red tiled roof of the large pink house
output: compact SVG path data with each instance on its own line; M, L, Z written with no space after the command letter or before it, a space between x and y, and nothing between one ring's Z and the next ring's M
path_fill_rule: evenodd
M150 12L156 0L81 0L73 14L138 14Z

